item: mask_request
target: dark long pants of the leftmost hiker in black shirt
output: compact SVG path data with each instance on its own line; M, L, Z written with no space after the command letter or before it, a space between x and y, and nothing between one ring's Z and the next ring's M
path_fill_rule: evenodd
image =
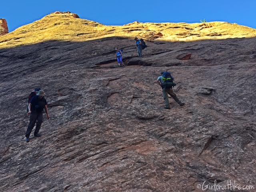
M37 120L37 122L36 122ZM41 128L41 124L43 122L43 113L42 112L31 112L29 116L29 124L26 131L26 137L28 138L30 136L30 133L32 132L32 129L36 123L36 129L34 131L34 134L37 134Z

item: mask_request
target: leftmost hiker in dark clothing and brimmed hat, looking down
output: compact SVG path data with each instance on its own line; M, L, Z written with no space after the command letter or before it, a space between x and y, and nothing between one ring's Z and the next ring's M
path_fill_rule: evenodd
M47 119L50 119L49 113L48 113L48 108L47 108L47 102L46 99L44 98L45 93L44 90L39 90L36 93L36 96L34 96L29 105L28 105L28 113L27 115L29 115L29 124L28 124L28 128L26 131L26 142L29 142L29 136L30 133L32 132L32 129L36 123L36 129L34 131L34 136L35 137L40 137L41 135L38 133L40 128L41 128L41 124L43 122L43 110L45 109L46 111L46 117ZM37 121L37 122L36 122Z

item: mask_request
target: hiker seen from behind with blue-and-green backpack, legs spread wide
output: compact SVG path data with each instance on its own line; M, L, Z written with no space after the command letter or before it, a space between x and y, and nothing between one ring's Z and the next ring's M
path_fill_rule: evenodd
M161 76L157 78L157 83L162 87L162 92L164 96L164 102L165 102L165 109L170 109L170 103L168 99L168 94L180 105L183 106L184 103L182 103L177 95L173 92L172 88L176 86L176 83L174 83L174 78L171 75L170 72L161 72Z

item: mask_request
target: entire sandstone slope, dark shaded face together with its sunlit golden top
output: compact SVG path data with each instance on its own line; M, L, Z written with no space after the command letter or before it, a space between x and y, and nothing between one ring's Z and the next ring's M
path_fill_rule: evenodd
M219 40L186 33L205 38L219 25L227 30ZM0 191L189 192L215 180L255 188L256 38L232 27L104 26L61 13L1 36ZM187 42L171 35L177 30ZM142 58L134 36L150 39ZM116 67L115 47L124 48L125 67ZM186 52L189 60L176 58ZM185 102L170 98L171 110L154 83L166 69ZM35 87L45 90L51 119L26 143Z

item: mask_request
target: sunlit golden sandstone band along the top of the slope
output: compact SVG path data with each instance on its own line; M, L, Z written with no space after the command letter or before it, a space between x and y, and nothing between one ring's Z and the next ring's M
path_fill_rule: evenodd
M22 26L14 33L0 38L0 46L10 48L50 40L84 42L107 37L133 39L138 36L148 42L193 42L256 36L256 30L253 28L227 22L203 24L133 22L124 26L105 26L77 17L71 12L49 14L41 20ZM184 52L186 51L181 53Z

